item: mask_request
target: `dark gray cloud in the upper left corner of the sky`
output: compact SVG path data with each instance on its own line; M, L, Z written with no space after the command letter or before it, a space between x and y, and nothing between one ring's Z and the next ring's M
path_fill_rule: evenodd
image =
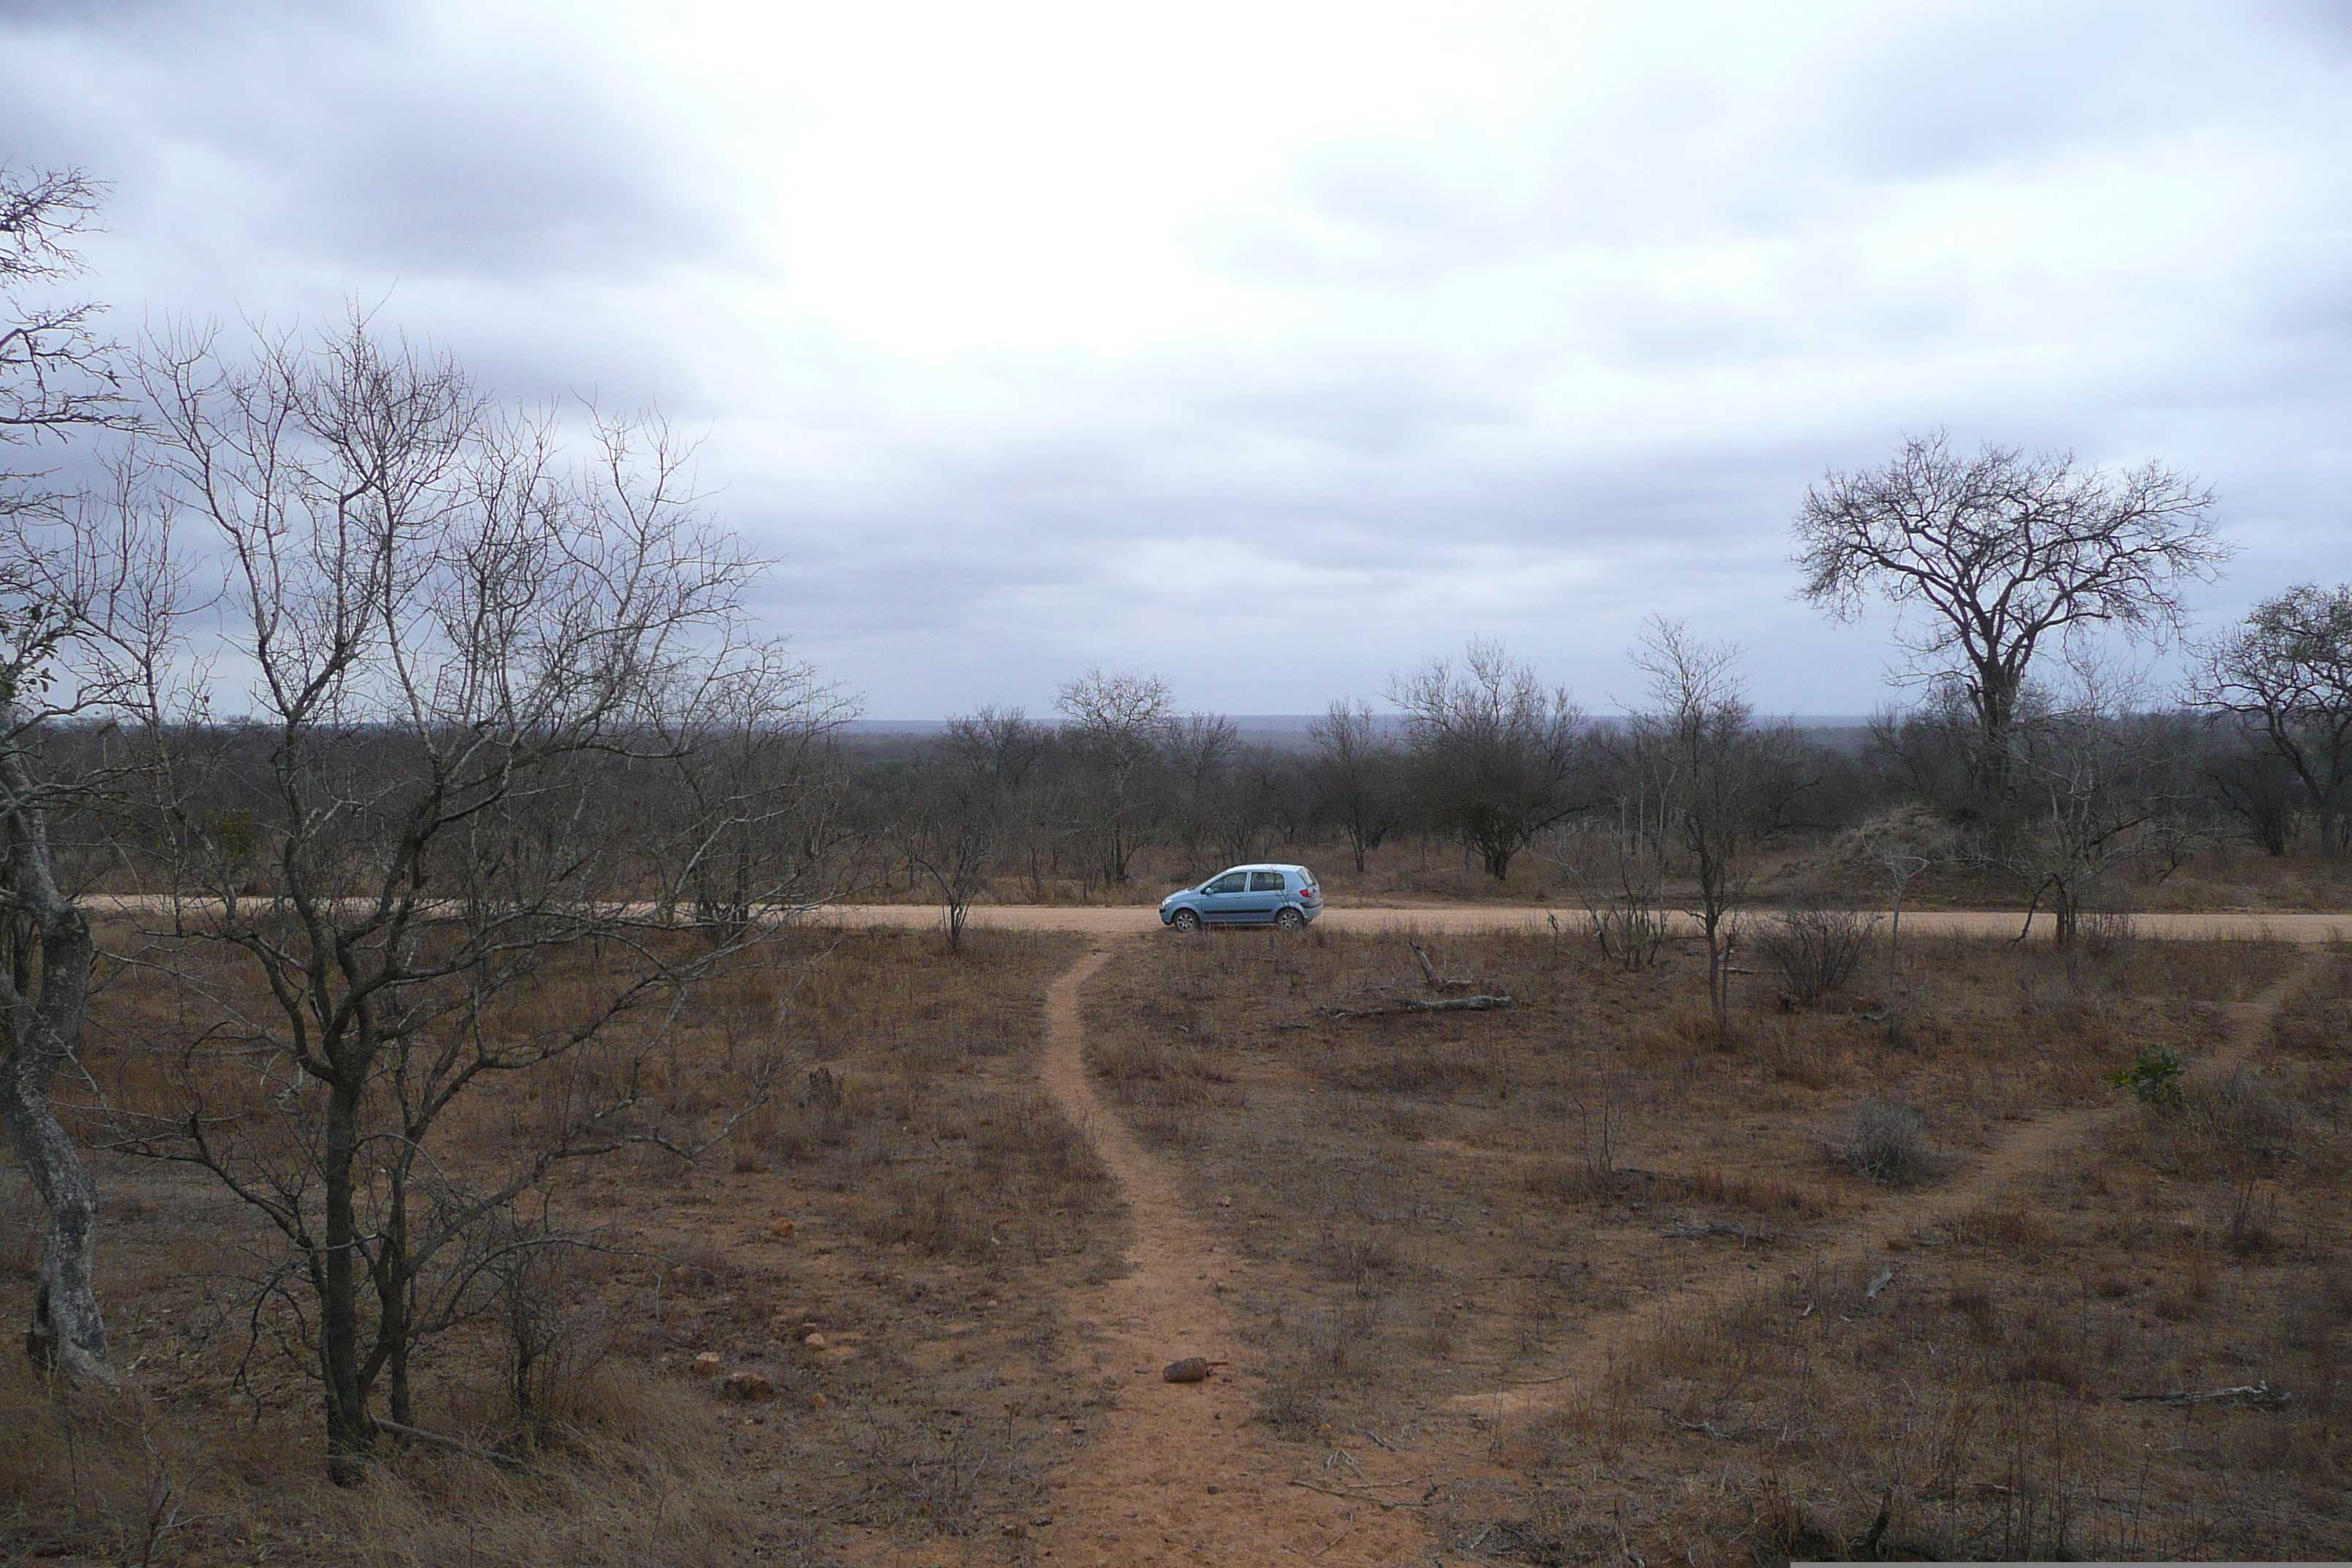
M381 2L42 7L0 28L64 66L0 129L47 129L113 179L118 228L367 280L633 277L727 235L694 148L562 38L480 52Z

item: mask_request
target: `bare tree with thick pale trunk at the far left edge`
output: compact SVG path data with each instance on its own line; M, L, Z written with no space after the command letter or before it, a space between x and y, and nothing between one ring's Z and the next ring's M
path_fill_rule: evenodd
M99 195L80 169L0 167L5 444L134 423L115 348L94 331L99 306L24 296L82 270L71 240L96 221ZM42 741L136 689L176 578L160 531L122 531L108 550L68 515L71 498L45 475L0 468L0 1126L49 1215L26 1345L66 1375L111 1382L92 1284L96 1185L52 1105L56 1072L80 1048L94 945L49 846L52 813L108 780L47 766Z

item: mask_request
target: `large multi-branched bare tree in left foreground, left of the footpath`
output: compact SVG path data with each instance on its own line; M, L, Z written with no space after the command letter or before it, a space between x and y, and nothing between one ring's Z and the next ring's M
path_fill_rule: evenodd
M560 1161L691 1154L731 1126L673 1121L649 1065L694 985L774 922L668 926L649 867L682 858L642 839L724 844L793 792L614 820L644 771L833 708L750 632L762 564L699 512L659 428L595 421L600 461L574 468L550 421L360 320L247 362L174 336L143 374L169 482L226 567L219 651L252 672L256 743L148 736L181 893L155 961L223 1023L181 1044L179 1098L134 1147L212 1171L285 1237L273 1288L303 1302L329 1472L350 1479L386 1420L414 1427L414 1352L470 1309L485 1225ZM198 809L212 769L249 771L228 780L242 816ZM795 879L727 898L788 914ZM769 1067L753 1041L731 1114ZM466 1159L445 1124L501 1079L543 1086L529 1135Z

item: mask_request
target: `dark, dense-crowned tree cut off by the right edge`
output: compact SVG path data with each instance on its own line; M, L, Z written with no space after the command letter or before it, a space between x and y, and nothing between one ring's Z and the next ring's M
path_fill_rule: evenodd
M2319 853L2343 853L2352 792L2352 583L2303 583L2263 599L2204 649L2192 698L2239 715L2303 785ZM2260 773L2239 773L2246 799ZM2284 849L2284 842L2281 842Z

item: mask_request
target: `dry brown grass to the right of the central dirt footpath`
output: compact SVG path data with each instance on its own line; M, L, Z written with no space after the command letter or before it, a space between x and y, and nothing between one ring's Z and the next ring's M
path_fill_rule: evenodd
M1785 1013L1759 980L1729 1041L1696 1006L1691 954L1628 973L1545 938L1451 938L1437 959L1519 1006L1331 1018L1416 992L1418 966L1395 940L1308 933L1138 945L1089 1027L1103 1060L1185 1039L1218 1084L1218 1103L1176 1107L1150 1103L1157 1079L1112 1086L1181 1117L1169 1150L1251 1265L1261 1420L1397 1448L1437 1479L1428 1516L1451 1552L2352 1547L2336 1027L2352 971L2303 992L2249 1072L2192 1074L2183 1110L2157 1114L2103 1077L2150 1046L2197 1060L2220 1009L2300 954L1917 943L1900 997L1865 969L1860 994ZM2079 1161L1938 1227L1900 1222L2020 1117L2089 1107L2117 1119ZM1823 1145L1875 1154L1853 1171ZM1816 1262L1839 1246L1844 1262ZM1630 1338L1606 1371L1545 1382L1611 1326ZM2263 1378L2293 1392L2284 1413L2114 1399ZM1562 1408L1534 1427L1482 1415L1548 1387Z

